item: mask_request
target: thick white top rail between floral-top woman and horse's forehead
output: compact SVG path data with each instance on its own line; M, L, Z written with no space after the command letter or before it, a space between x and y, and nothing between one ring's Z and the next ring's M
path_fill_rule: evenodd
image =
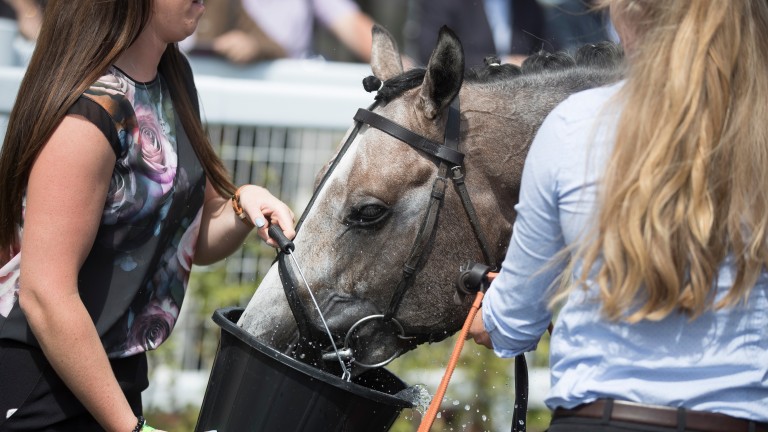
M205 120L214 124L344 130L373 97L362 80L370 66L276 60L236 67L192 58Z

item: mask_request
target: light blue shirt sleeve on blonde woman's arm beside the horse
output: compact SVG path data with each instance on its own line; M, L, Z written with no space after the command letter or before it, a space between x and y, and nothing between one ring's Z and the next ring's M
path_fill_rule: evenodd
M483 321L500 357L536 349L552 314L547 290L563 269L565 242L558 212L558 158L563 155L557 109L544 120L523 169L520 201L507 255L483 300Z

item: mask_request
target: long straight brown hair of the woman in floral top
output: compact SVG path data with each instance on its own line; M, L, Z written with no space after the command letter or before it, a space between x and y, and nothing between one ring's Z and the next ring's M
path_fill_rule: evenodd
M0 265L17 246L21 204L38 154L67 110L138 38L152 14L152 0L51 0L8 122L0 154ZM185 59L175 44L158 67L182 125L216 190L234 186L216 156L186 91Z

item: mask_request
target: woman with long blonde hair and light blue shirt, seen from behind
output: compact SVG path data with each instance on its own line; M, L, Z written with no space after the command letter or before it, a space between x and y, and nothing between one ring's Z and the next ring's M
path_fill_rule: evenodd
M564 300L550 432L766 431L768 2L603 3L626 80L544 121L471 334L530 351Z

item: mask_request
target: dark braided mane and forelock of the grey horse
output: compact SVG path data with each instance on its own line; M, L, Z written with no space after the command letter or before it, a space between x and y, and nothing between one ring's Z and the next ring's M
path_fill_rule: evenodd
M578 68L618 71L623 59L624 51L613 42L587 44L576 50L574 55L565 51L550 53L540 50L526 58L522 66L502 64L498 57L488 56L483 59L483 65L469 69L464 74L464 80L471 84L493 84ZM368 92L377 92L375 100L388 103L420 86L426 71L426 68L409 69L383 83L374 76L368 76L363 80L363 87Z

